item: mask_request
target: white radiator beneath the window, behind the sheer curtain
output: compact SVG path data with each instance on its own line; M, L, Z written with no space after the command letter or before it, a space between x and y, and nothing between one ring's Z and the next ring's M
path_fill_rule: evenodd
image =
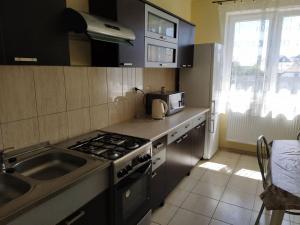
M287 120L277 118L258 117L236 112L227 113L227 141L256 145L260 135L267 140L296 139L300 131L300 116Z

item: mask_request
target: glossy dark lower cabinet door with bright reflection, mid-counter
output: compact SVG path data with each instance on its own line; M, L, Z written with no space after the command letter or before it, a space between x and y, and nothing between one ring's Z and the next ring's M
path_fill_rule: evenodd
M167 146L167 193L170 193L191 171L192 144L192 135L191 131L189 131Z

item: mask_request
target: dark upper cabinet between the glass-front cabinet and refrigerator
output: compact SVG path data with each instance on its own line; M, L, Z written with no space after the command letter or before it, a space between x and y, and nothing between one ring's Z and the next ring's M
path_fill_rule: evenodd
M193 67L195 26L179 21L178 68Z

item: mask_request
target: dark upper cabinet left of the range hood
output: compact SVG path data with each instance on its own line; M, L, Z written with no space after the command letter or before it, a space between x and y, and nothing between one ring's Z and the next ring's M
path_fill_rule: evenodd
M69 65L64 0L0 1L0 64Z

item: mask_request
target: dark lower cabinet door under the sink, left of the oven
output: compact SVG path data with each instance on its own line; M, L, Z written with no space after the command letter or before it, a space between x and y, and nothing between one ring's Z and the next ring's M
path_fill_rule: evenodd
M105 191L57 225L108 225L109 192Z

